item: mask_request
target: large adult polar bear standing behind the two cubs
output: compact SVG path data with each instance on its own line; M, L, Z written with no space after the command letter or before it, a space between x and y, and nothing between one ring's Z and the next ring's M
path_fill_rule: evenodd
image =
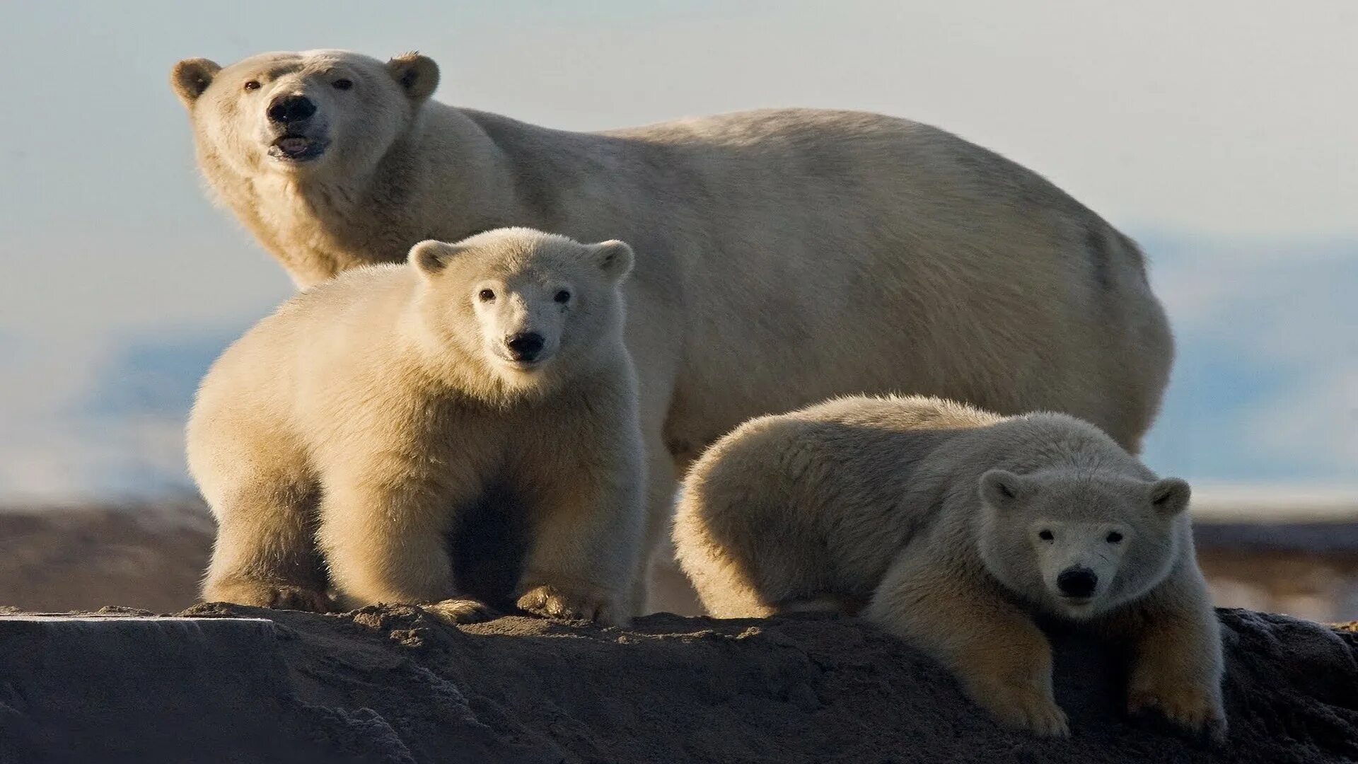
M1062 411L1133 453L1154 417L1173 343L1135 245L990 151L854 111L573 133L437 80L340 50L171 75L212 190L299 287L502 226L629 242L655 542L703 446L831 396Z

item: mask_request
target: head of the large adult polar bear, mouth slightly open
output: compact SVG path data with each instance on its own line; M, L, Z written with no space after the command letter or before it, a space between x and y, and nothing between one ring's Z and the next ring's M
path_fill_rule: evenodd
M372 170L439 84L417 53L265 53L230 67L185 58L170 75L205 173L353 177ZM210 179L210 178L209 178Z

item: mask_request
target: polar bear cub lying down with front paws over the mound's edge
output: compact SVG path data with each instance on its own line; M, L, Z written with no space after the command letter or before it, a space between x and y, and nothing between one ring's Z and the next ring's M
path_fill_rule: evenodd
M1188 484L1065 415L842 398L743 424L684 481L674 538L718 617L862 612L1004 722L1067 734L1035 612L1133 650L1131 710L1221 734L1221 636Z

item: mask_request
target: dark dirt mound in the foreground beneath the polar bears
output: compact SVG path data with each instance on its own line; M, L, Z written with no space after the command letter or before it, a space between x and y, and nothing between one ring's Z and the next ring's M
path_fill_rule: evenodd
M247 650L258 653L251 666L265 678L243 677L250 669L239 666L234 642L204 642L201 655L187 658L178 643L163 654L132 643L118 648L122 663L96 663L140 676L140 661L145 672L185 674L159 691L155 712L145 687L110 674L110 689L96 673L90 682L98 701L68 701L64 714L39 718L42 696L53 691L14 682L60 677L0 676L8 692L0 693L0 719L8 719L0 723L0 757L10 750L18 761L57 760L42 741L77 737L88 730L83 715L96 710L102 729L121 733L98 752L67 748L62 756L550 764L1358 759L1358 633L1248 610L1221 610L1232 725L1224 748L1154 719L1124 718L1115 647L1076 633L1052 635L1057 697L1073 737L1040 741L994 725L942 669L851 619L656 614L614 629L515 616L455 629L403 606L318 616L200 605L183 616L272 619L272 648ZM52 661L61 644L29 644L29 663ZM0 639L0 648L10 653L0 659L4 674L5 663L15 665L14 642ZM95 661L88 648L81 653L81 661ZM202 672L174 669L182 659L210 670L189 681ZM216 687L213 672L238 678Z

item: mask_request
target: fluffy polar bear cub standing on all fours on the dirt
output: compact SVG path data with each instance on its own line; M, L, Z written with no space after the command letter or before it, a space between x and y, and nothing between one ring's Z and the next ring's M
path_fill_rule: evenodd
M329 579L345 605L482 619L448 538L508 491L527 526L519 606L623 620L644 522L631 261L622 242L524 228L426 241L261 321L189 421L220 526L204 597L325 610Z

